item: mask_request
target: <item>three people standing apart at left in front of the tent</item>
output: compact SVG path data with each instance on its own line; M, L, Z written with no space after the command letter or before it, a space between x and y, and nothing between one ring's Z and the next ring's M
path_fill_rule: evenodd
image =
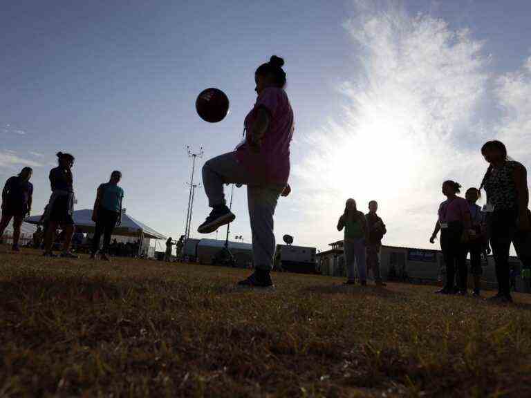
M50 171L49 180L52 194L48 205L41 217L44 235L44 256L56 257L53 254L53 243L56 231L62 229L63 247L59 254L63 258L77 258L71 252L72 236L75 222L73 219L75 194L73 188L72 168L75 158L70 153L57 153L58 166ZM19 252L19 238L22 222L30 215L32 205L33 185L30 182L32 169L24 167L18 176L9 178L2 191L2 218L0 220L0 238L13 219L12 251ZM120 171L113 171L109 182L100 184L97 188L96 200L92 219L95 222L91 258L101 254L102 260L109 260L107 256L111 235L116 225L120 225L122 217L122 200L124 191L118 186L122 178ZM103 247L100 250L100 239L104 236Z

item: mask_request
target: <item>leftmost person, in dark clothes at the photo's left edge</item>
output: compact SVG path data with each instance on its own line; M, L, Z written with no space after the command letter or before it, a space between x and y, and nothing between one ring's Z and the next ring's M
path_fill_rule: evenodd
M33 185L30 178L33 170L24 167L18 176L8 178L2 190L2 218L0 220L0 240L3 232L13 220L12 251L19 252L20 227L25 216L31 211Z

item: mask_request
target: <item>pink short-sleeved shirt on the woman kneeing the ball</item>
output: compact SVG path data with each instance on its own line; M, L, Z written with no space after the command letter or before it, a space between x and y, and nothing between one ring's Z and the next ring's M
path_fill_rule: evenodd
M236 149L236 158L258 180L285 185L290 176L290 142L294 128L293 111L286 91L277 87L262 91L245 117L247 134L252 131L259 108L265 108L270 113L269 128L263 136L260 152L254 153L247 144L243 144Z

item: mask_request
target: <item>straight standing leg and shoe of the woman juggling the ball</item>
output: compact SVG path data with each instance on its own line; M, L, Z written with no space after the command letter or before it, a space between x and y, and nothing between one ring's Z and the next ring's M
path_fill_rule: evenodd
M275 249L273 216L281 191L272 187L250 185L247 193L255 272L241 284L270 286Z

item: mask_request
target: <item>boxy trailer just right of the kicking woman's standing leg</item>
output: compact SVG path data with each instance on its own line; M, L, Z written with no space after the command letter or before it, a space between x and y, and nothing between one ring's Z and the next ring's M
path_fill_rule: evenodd
M317 274L315 247L277 245L274 255L274 269L298 274Z

